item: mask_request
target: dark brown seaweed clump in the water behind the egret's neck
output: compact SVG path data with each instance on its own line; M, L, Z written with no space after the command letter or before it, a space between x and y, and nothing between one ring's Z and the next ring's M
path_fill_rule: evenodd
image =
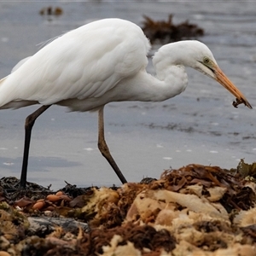
M189 23L186 20L180 24L173 24L172 15L169 15L168 20L152 20L144 15L143 32L150 40L151 44L168 44L185 39L195 39L204 35L204 30Z

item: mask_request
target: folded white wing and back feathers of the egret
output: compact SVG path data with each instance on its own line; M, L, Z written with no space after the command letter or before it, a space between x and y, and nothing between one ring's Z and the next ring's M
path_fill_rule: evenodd
M102 97L147 65L148 49L142 30L129 21L107 19L81 26L19 62L0 80L0 106Z

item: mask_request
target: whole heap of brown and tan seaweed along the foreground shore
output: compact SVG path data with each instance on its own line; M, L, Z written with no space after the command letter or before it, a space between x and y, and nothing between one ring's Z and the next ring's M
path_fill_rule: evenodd
M230 171L189 165L119 188L42 193L7 193L2 179L0 255L253 256L255 174L241 160Z

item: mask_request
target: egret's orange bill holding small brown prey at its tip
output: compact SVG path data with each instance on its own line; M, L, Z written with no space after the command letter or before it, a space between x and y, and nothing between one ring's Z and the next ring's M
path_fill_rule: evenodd
M244 103L248 108L253 108L251 104L247 101L247 98L243 96L241 91L236 88L236 85L227 78L227 76L218 66L214 67L214 73L216 75L216 80L218 81L218 83L222 84L224 88L226 88L234 96L236 96L236 102L233 102L234 107L237 107L239 104Z

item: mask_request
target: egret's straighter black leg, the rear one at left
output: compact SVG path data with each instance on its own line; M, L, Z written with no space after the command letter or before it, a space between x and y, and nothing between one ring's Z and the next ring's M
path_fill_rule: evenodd
M22 162L22 169L21 169L21 175L20 175L20 188L25 189L26 188L26 172L27 172L27 161L28 161L28 154L29 154L29 146L30 146L30 140L31 140L31 132L32 127L38 118L38 116L44 111L49 108L51 105L48 106L42 106L38 108L35 112L30 114L25 121L25 143L24 143L24 153L23 153L23 162Z

